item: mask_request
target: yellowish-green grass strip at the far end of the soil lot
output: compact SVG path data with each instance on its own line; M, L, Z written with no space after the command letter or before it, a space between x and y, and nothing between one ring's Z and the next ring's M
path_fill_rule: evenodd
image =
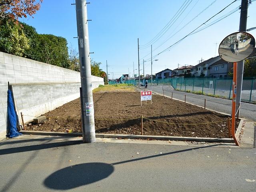
M96 92L111 92L111 91L131 91L134 92L133 84L114 84L114 85L100 85L98 88L92 90L93 93Z

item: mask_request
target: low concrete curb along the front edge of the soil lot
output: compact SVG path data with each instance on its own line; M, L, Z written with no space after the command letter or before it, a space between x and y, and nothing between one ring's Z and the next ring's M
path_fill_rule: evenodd
M20 131L24 135L46 135L46 136L66 136L78 137L82 133L63 133L47 131ZM207 138L207 137L177 137L177 136L152 136L152 135L125 135L125 134L96 134L97 138L122 138L122 139L155 139L155 140L175 140L175 141L198 141L198 142L221 142L233 143L232 138Z

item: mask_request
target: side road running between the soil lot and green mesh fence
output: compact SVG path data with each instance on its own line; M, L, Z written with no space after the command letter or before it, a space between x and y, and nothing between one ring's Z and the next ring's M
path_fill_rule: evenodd
M232 100L176 91L172 88L172 86L153 86L153 92L163 94L163 89L165 96L172 96L173 98L184 101L186 94L186 102L190 102L200 106L204 106L204 98L206 98L206 108L231 114ZM154 102L154 97L152 99L152 101ZM256 105L241 102L240 117L256 121Z

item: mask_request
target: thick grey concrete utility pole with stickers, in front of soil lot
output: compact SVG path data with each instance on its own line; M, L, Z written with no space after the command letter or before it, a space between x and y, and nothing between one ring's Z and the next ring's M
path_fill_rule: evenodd
M86 0L76 0L76 23L78 34L78 50L81 75L81 112L83 142L92 143L96 141L94 126L94 106L92 99L92 74L90 64L88 20Z

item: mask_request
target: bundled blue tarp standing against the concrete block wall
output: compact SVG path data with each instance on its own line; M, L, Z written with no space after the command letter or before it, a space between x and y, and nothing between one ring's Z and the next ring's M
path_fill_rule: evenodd
M16 112L14 110L14 104L12 101L12 92L11 90L8 90L8 96L7 96L7 135L6 137L17 137L19 135L22 135L17 130L17 117Z

